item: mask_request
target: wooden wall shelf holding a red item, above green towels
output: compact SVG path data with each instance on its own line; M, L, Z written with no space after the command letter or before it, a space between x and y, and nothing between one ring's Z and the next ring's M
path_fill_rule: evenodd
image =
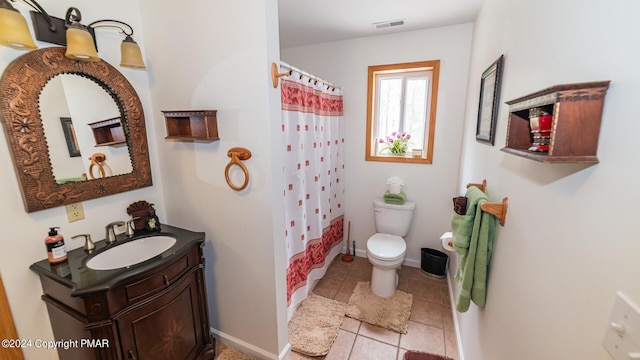
M507 144L501 150L543 163L598 163L604 97L610 81L556 85L507 101ZM548 151L531 151L529 110L552 116Z

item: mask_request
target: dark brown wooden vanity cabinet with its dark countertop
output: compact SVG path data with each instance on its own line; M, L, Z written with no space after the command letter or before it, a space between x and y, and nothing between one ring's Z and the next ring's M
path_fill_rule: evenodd
M56 340L77 341L58 349L60 359L213 359L202 240L133 270L88 269L82 249L62 265L32 265Z

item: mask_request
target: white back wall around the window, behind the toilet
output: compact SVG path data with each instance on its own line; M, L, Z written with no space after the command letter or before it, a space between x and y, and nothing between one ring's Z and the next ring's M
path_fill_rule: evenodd
M282 60L344 89L345 220L358 256L375 233L373 199L386 191L388 178L404 180L403 191L416 202L407 242L406 264L420 267L420 248L442 250L456 194L464 120L472 25L301 46L282 50ZM365 161L367 67L440 59L440 83L433 164Z

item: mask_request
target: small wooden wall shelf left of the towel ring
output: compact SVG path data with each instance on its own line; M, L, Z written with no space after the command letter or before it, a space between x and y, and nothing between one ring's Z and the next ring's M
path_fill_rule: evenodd
M167 136L179 141L220 140L216 110L163 111Z

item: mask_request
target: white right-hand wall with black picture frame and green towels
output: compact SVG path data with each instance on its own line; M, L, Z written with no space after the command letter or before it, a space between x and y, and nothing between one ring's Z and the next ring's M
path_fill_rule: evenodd
M465 360L609 359L602 347L614 294L640 303L635 109L640 93L632 0L487 0L474 27L461 179L509 197L487 306L458 316ZM505 55L496 146L475 142L480 76ZM555 84L611 80L600 163L549 165L500 151L505 101ZM580 130L575 136L580 136Z

